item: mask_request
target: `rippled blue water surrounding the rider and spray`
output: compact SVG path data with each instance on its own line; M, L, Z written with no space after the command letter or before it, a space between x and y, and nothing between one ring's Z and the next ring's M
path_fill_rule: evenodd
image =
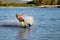
M60 8L0 8L0 22L15 20L17 13L33 16L33 27L0 26L0 40L60 40Z

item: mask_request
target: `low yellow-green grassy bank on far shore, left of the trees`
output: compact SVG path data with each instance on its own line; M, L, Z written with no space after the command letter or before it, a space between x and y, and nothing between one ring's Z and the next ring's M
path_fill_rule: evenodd
M0 7L34 7L35 4L26 4L26 3L8 3L8 4L0 4Z

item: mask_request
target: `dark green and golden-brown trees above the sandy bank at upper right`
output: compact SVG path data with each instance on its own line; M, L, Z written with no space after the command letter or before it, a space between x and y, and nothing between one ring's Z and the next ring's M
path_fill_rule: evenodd
M60 5L60 0L33 0L28 3L34 3L35 5Z

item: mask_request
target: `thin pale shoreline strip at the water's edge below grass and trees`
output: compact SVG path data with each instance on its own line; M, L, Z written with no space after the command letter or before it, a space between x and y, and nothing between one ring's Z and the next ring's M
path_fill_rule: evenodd
M29 8L29 7L0 6L0 8ZM40 5L40 6L35 6L35 8L60 8L60 5Z

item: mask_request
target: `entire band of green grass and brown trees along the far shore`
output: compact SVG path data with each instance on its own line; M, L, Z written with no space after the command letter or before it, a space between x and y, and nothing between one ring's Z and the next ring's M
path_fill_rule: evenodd
M0 6L39 6L39 5L60 5L60 0L33 0L27 3L16 3L16 2L8 2L3 3L3 0L0 0Z

